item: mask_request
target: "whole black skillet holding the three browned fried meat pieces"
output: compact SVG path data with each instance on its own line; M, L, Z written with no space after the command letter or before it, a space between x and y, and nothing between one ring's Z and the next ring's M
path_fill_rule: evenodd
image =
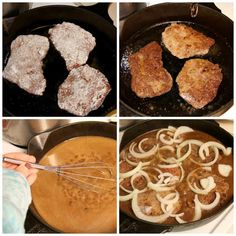
M128 109L148 116L211 116L220 115L233 104L233 22L223 14L198 4L198 14L191 17L188 3L164 3L147 7L125 21L120 37L120 100ZM175 79L188 59L180 60L164 47L161 33L172 22L184 23L215 39L210 52L201 58L222 68L223 81L217 97L202 109L194 109L178 92ZM151 41L162 49L164 67L174 80L170 92L155 98L141 99L130 87L128 56Z

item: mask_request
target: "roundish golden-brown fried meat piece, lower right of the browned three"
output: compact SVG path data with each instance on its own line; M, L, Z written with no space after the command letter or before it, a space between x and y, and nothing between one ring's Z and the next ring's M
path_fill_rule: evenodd
M222 79L218 64L191 59L185 62L176 82L180 96L194 108L200 109L216 97Z

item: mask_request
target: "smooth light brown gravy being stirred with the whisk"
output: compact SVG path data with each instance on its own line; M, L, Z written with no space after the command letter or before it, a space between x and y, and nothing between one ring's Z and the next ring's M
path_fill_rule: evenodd
M98 136L77 137L60 143L40 164L57 166L103 161L114 167L116 141ZM32 186L35 208L44 221L66 233L113 233L116 231L116 184L110 191L96 193L78 188L55 173L40 171Z

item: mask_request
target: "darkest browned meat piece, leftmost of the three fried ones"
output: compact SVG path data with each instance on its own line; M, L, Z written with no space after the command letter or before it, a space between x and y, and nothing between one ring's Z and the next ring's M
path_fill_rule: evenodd
M160 96L171 90L171 75L163 67L162 49L151 42L129 56L131 89L140 98Z

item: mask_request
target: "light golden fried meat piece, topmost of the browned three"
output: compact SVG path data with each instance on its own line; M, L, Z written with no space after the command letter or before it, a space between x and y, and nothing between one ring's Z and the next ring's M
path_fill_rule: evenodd
M162 33L162 41L179 59L205 55L215 40L184 24L172 23Z

